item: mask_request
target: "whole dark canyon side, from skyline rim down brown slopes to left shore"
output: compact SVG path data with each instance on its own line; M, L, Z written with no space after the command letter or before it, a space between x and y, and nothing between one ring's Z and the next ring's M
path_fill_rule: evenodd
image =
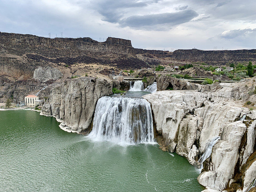
M53 87L49 84L60 84L76 75L106 77L113 71L150 68L165 61L221 65L249 60L255 63L256 50L169 52L133 48L130 40L114 37L98 42L89 37L46 38L0 32L0 102L13 98L17 103L42 89L39 96L48 96ZM35 70L41 68L53 68L62 75L36 78L40 73Z

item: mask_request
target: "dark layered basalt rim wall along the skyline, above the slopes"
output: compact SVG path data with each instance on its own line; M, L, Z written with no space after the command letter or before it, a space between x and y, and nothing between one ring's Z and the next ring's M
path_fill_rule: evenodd
M85 54L143 54L149 53L159 58L172 60L202 61L210 64L226 62L256 61L256 50L203 51L198 49L146 50L132 47L131 40L108 37L105 42L98 42L89 37L84 38L46 38L34 35L0 33L0 54L21 56L35 53L47 58L77 57Z

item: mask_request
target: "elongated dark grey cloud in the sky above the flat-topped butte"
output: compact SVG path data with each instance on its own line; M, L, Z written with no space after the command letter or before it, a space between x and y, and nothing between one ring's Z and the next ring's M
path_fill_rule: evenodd
M141 27L152 27L159 24L168 24L170 26L179 25L186 23L193 18L197 17L198 14L194 10L184 10L172 13L160 13L160 14L149 14L149 15L134 15L125 18L120 21L122 26L128 26L132 28Z

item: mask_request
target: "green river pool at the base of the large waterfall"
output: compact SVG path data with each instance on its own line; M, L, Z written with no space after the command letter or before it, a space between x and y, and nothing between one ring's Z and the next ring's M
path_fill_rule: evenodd
M0 111L0 191L200 192L198 172L158 145L95 142L30 110Z

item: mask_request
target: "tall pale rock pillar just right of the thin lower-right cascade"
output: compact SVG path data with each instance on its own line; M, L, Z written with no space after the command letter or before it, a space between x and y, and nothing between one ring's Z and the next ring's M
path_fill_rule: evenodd
M208 172L202 172L198 176L198 182L201 185L217 188L220 191L226 188L228 181L235 172L239 158L238 149L245 131L246 126L242 121L236 121L225 126L221 132L220 140L212 149L212 161Z

